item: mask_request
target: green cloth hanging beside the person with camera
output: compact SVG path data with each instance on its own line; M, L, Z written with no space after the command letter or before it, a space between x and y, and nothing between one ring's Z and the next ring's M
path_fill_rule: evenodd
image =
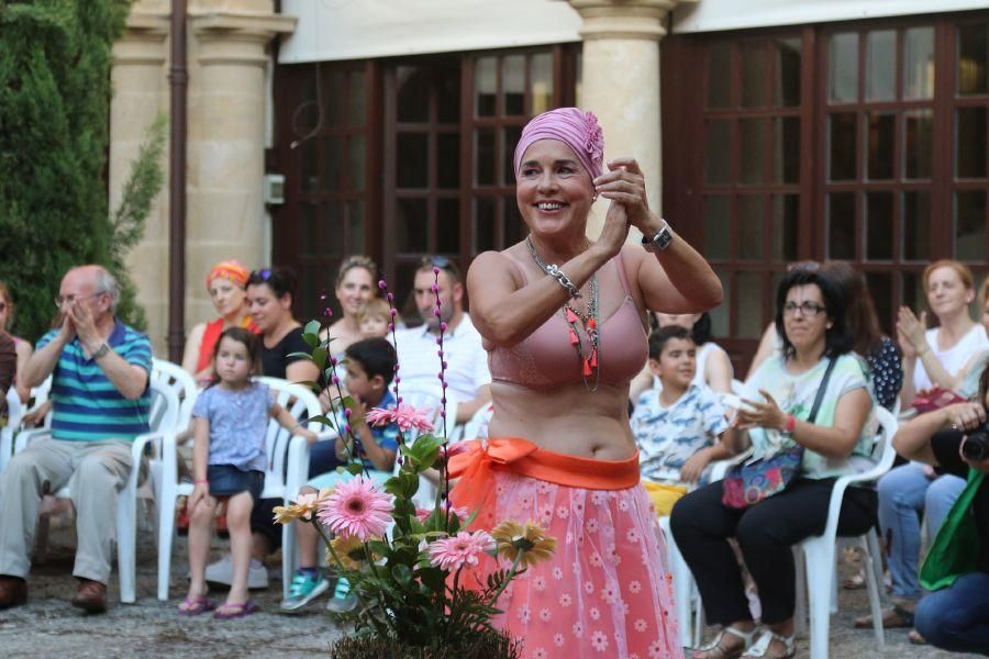
M955 500L921 566L920 582L929 591L948 588L958 577L979 571L981 540L971 503L986 474L968 470L968 483Z

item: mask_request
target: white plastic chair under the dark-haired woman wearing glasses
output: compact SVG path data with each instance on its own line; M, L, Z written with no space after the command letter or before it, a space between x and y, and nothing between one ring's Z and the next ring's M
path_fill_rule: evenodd
M807 538L794 548L797 558L797 574L801 574L807 567L807 595L810 603L810 645L811 659L827 659L827 634L831 625L831 613L837 607L835 561L837 552L837 523L838 513L845 490L851 484L865 484L875 482L890 470L896 458L896 449L892 447L892 437L897 432L897 420L888 410L876 405L875 420L881 426L876 438L873 456L876 457L875 466L863 473L843 476L834 483L831 491L831 503L827 509L827 525L820 536ZM882 614L879 607L879 587L882 583L880 567L879 536L876 529L855 538L842 538L842 543L853 545L862 550L866 562L866 584L869 592L869 608L873 614L873 629L876 635L876 645L879 650L886 647L886 638L882 632ZM798 578L798 583L800 579ZM802 624L803 597L798 589L797 612L794 619Z

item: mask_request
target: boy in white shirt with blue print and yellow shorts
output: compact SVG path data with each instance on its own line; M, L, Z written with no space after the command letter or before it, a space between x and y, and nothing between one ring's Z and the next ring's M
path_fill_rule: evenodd
M734 432L718 395L694 378L696 351L680 325L649 335L648 366L662 388L638 398L631 420L643 485L660 516L669 515L688 485L703 480L712 460L734 455Z

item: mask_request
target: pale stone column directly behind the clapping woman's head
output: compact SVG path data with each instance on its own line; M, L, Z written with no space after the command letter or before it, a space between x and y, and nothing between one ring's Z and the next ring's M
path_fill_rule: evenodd
M662 214L659 40L678 0L568 0L584 19L580 107L598 115L604 158L633 156L646 178L649 208ZM601 231L607 200L594 204L588 235ZM637 242L633 230L629 239Z

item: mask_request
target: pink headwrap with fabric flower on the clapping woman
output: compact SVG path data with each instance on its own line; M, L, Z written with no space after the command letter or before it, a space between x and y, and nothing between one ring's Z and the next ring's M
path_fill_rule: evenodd
M604 160L604 133L593 112L577 108L557 108L543 112L522 129L522 136L515 146L515 179L522 167L525 149L540 139L558 139L569 146L577 159L590 174L591 179L601 176Z

